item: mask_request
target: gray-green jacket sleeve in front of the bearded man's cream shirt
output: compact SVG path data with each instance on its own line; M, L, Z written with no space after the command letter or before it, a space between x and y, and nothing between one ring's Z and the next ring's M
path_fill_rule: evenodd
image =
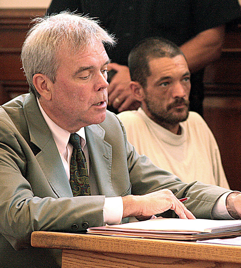
M182 198L185 196L190 197L190 199L185 202L185 206L192 211L197 218L211 219L211 210L214 206L214 203L218 197L228 190L215 185L206 185L201 182L187 184L180 181L180 179L175 175L153 165L148 157L144 155L140 156L136 152L133 145L127 141L124 126L116 115L114 115L114 119L112 117L102 123L106 131L105 139L108 140L109 143L111 143L111 140L113 140L113 138L108 137L109 133L113 133L113 126L115 126L115 130L117 131L118 124L116 123L116 120L120 122L119 124L122 129L120 135L118 136L122 135L124 140L127 166L130 176L131 193L134 195L142 195L152 191L168 188L177 196L177 198ZM117 133L116 131L114 134ZM114 140L116 141L117 139ZM111 145L113 148L116 148L116 144ZM120 153L118 149L113 148L113 154L116 151L118 154ZM113 158L115 158L114 155ZM163 216L176 215L172 211L168 211L167 213L164 213Z

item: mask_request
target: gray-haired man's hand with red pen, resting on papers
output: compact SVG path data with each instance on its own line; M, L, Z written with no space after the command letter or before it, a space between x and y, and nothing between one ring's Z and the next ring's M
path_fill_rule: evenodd
M138 220L143 220L171 209L180 219L195 219L193 214L168 189L141 196L127 195L122 197L122 200L123 218L134 216Z

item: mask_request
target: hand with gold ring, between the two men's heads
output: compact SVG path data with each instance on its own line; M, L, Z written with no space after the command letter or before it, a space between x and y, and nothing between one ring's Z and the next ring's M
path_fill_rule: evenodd
M117 73L108 86L108 105L118 109L118 112L139 108L140 102L133 97L130 89L129 68L125 65L109 63L108 70L111 69L116 70Z

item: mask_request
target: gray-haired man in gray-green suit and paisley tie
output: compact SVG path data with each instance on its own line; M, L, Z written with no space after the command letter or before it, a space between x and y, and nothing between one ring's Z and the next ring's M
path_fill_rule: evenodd
M59 251L31 248L37 230L78 232L163 212L240 218L238 192L183 183L128 143L106 112L103 44L114 39L68 13L37 19L28 34L22 61L30 94L0 107L1 267L61 265ZM187 208L178 200L186 196Z

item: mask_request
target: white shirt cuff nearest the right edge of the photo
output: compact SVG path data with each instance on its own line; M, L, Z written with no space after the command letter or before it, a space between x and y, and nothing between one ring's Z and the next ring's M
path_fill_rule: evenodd
M226 198L232 192L233 191L224 193L218 198L211 212L213 219L234 219L232 216L230 216L226 207Z

